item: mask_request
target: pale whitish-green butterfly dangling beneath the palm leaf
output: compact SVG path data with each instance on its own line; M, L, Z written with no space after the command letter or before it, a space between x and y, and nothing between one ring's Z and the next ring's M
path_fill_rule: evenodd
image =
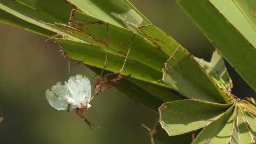
M90 105L87 105L91 98L91 84L87 77L82 75L71 76L68 82L57 82L56 85L47 89L45 97L49 104L57 110L76 110L79 115L91 128L91 124L84 118L83 112L88 110Z

